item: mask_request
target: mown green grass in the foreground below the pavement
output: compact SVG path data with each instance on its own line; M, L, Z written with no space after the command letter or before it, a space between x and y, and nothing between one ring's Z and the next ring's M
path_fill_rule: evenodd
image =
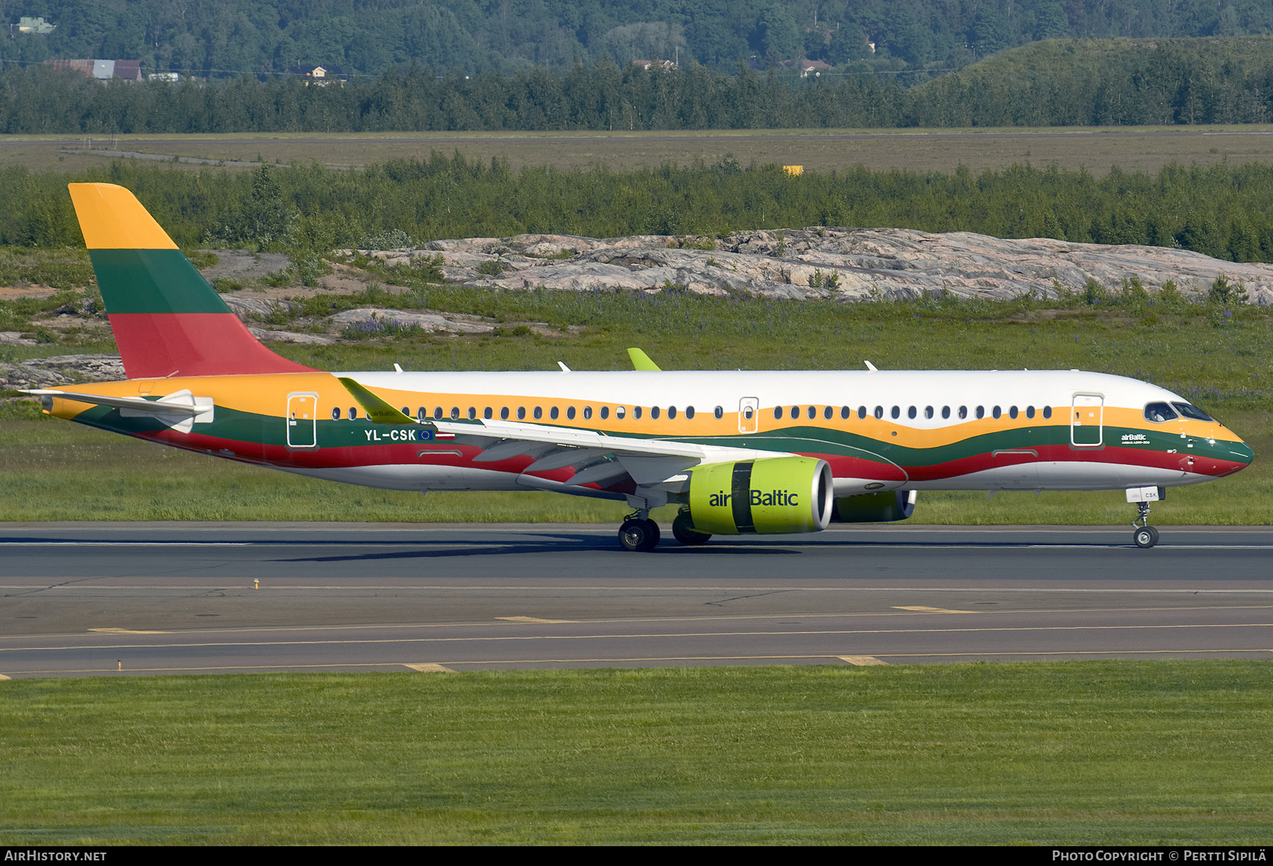
M0 683L0 843L1263 844L1258 661Z

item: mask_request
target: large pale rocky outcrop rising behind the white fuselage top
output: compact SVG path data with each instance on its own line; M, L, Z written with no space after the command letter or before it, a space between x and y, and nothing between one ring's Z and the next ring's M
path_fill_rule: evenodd
M743 231L719 240L524 234L362 252L391 265L440 254L448 281L482 289L659 291L675 286L705 295L845 301L904 300L927 291L1002 300L1027 291L1055 298L1058 291L1082 290L1088 280L1118 287L1124 278L1137 277L1150 291L1174 280L1185 295L1197 296L1225 273L1246 286L1250 303L1273 305L1269 265L1225 262L1162 247L1012 240L969 231L812 228ZM488 262L498 263L500 272L482 272ZM485 271L494 267L486 265Z

